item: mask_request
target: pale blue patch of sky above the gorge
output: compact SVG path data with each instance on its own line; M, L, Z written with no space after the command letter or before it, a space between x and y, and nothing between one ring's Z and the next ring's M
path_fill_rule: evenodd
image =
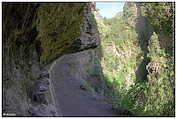
M99 9L101 16L112 18L118 12L123 11L124 3L125 2L96 2L96 8Z

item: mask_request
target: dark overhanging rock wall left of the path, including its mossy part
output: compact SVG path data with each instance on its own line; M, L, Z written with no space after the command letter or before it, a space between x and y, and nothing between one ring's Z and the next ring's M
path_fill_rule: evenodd
M98 45L90 3L3 3L3 116L60 116L45 64Z

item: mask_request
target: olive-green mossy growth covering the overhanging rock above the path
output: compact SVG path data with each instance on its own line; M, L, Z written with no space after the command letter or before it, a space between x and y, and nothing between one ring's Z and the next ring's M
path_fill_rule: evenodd
M38 10L38 39L41 61L49 63L64 53L73 52L71 45L79 37L85 3L45 3ZM70 8L70 9L68 9ZM70 50L69 50L70 49Z

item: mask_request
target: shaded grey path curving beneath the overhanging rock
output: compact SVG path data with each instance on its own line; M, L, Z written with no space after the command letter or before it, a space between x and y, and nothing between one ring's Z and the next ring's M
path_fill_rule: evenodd
M62 116L118 116L101 96L80 89L82 79L71 73L66 60L56 61L50 73L58 113L62 113Z

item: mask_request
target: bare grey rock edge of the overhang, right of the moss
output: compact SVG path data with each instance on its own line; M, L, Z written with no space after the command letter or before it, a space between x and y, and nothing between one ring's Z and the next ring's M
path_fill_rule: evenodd
M95 48L100 44L97 24L94 20L94 15L91 11L84 11L84 23L81 26L81 35L77 38L76 44L73 44L73 49L82 51L84 49ZM79 44L77 46L77 44Z

